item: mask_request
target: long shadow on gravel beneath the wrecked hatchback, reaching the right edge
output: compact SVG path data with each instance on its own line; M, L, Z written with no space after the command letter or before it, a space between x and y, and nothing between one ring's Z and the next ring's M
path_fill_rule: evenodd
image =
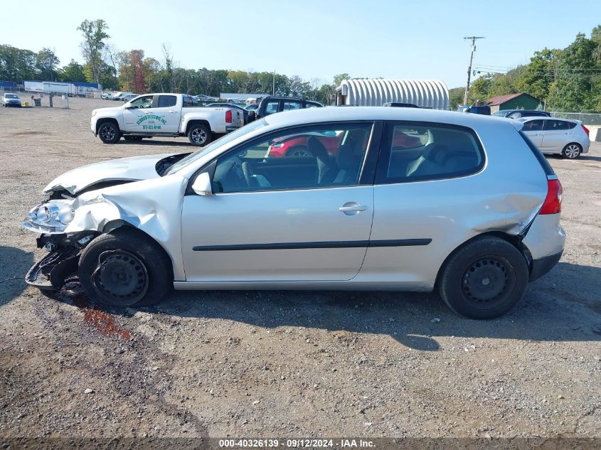
M182 318L220 318L263 328L320 328L388 335L408 348L439 350L437 336L523 341L601 341L601 269L560 263L528 286L500 318L457 316L435 294L356 291L175 291L151 309ZM136 309L105 310L133 316ZM102 313L105 314L105 313ZM347 336L348 337L348 336Z

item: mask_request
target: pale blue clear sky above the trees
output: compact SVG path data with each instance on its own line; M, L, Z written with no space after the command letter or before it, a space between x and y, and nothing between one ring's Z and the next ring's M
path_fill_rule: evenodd
M565 48L601 23L601 0L28 0L2 5L0 43L51 48L83 62L76 30L104 19L118 50L162 60L161 45L188 69L273 71L331 82L334 75L437 79L465 85L474 68L506 70L536 50ZM16 20L6 20L13 17Z

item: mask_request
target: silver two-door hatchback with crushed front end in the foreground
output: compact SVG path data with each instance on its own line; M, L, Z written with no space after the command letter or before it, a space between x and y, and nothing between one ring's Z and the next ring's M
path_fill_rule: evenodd
M437 290L504 314L561 257L562 189L521 122L427 109L302 109L192 154L90 164L23 226L40 289L93 301L175 289ZM283 150L290 151L283 151Z

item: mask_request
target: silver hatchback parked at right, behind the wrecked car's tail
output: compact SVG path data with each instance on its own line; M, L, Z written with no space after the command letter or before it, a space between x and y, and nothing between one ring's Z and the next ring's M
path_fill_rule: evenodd
M576 159L590 147L589 129L580 120L524 117L522 132L543 153Z

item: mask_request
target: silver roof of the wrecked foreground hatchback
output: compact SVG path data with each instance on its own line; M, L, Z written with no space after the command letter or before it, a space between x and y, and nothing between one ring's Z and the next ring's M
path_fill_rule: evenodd
M442 122L473 127L476 124L512 123L521 129L521 122L504 117L491 117L481 114L467 114L455 111L422 108L390 108L390 107L323 107L294 109L265 117L267 123L274 127L287 127L314 122L346 122L363 120L399 120L417 122Z

